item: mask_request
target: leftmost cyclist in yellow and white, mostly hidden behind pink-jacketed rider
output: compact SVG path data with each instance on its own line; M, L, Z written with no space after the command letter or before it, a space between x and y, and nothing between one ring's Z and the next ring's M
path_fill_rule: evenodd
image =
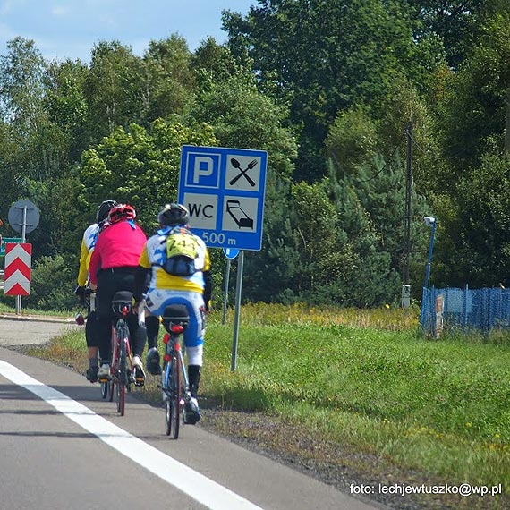
M108 218L110 209L117 205L115 200L101 202L96 212L96 223L89 225L81 238L80 268L78 270L78 286L74 293L80 298L81 304L85 302L85 292L89 285L89 265L92 251L98 240L98 235ZM85 325L85 340L89 350L89 369L86 378L90 382L98 380L98 334L96 331L96 310L89 310L87 324Z

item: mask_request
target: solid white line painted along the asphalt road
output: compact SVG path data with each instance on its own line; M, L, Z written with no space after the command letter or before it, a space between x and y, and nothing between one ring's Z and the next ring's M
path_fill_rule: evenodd
M141 439L98 416L85 405L52 387L45 386L10 363L0 360L0 375L37 395L90 434L97 436L107 445L211 510L225 510L225 508L262 510L260 506L254 505L232 490L226 489L200 472L193 471L185 464L144 443Z

